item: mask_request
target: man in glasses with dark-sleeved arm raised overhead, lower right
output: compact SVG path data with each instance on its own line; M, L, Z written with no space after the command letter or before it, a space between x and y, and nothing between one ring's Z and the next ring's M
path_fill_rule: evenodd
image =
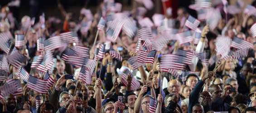
M197 85L194 87L192 93L189 96L189 103L188 103L188 113L192 113L192 107L195 104L198 104L198 102L202 105L204 108L204 111L209 111L212 105L212 95L208 91L204 91L199 95L201 89L203 88L203 84L206 79L212 77L214 75L213 71L209 71L207 75L204 75L201 80L197 83ZM210 104L210 105L209 105ZM204 106L205 105L205 106ZM206 109L207 108L207 109ZM207 112L205 112L207 113Z

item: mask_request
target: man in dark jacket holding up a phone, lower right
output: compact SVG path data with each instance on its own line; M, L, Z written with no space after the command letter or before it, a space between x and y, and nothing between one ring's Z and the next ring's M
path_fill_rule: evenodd
M210 85L209 86L209 92L212 94L213 96L213 105L212 105L212 109L215 112L221 112L221 111L227 111L227 108L231 107L230 105L224 103L224 99L228 96L229 94L229 89L231 87L226 87L226 89L224 89L224 94L222 94L222 89L219 85Z

